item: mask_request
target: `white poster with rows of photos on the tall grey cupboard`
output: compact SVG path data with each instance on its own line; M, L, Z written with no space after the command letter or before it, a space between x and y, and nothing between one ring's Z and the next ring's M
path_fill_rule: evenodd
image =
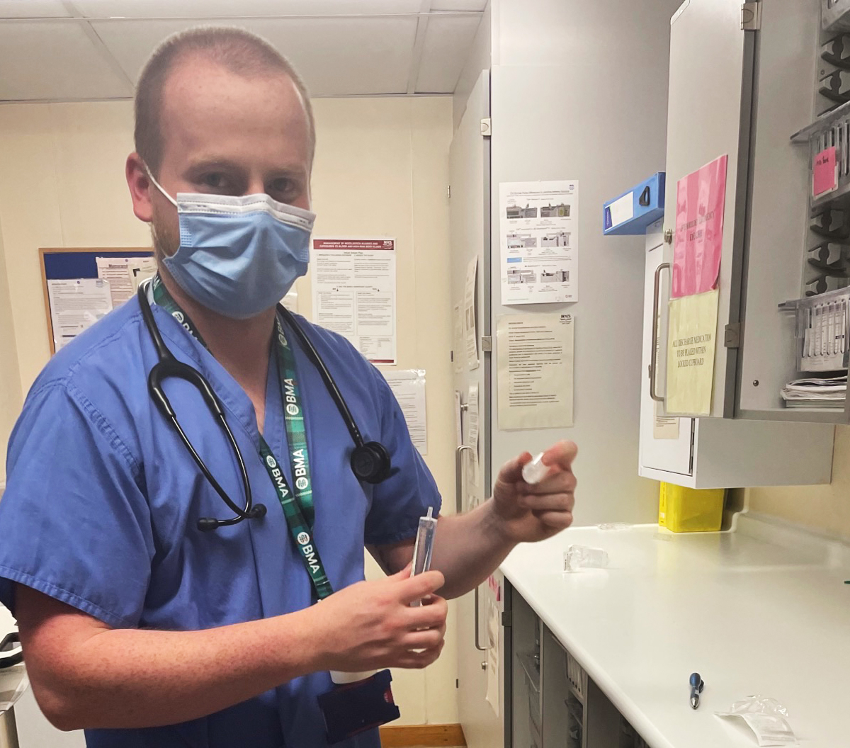
M576 179L499 184L501 303L578 301L578 200Z

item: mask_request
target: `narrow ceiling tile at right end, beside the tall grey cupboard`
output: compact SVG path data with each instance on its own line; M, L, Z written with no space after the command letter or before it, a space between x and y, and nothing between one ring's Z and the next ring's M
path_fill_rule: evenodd
M422 61L416 78L416 92L422 94L454 93L469 48L481 17L455 16L428 20L428 33L422 47Z

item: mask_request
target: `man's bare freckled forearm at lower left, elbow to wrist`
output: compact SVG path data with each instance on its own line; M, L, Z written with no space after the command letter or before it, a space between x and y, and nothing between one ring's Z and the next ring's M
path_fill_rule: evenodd
M27 666L42 710L61 729L180 723L321 669L311 615L200 632L84 635L73 614L61 615L24 643L39 653Z

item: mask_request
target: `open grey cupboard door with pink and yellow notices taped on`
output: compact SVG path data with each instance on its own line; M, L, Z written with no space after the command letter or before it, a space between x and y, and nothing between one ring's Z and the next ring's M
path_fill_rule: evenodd
M734 414L737 348L724 330L740 316L741 268L757 31L741 29L740 0L685 0L670 26L665 229L676 229L677 182L728 156L711 416ZM673 246L666 245L672 263ZM685 414L687 415L687 414Z

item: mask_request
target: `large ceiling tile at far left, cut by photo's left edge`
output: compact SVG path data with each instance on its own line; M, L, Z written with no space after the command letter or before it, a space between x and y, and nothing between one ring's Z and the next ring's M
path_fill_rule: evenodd
M0 23L0 100L132 95L79 22Z

